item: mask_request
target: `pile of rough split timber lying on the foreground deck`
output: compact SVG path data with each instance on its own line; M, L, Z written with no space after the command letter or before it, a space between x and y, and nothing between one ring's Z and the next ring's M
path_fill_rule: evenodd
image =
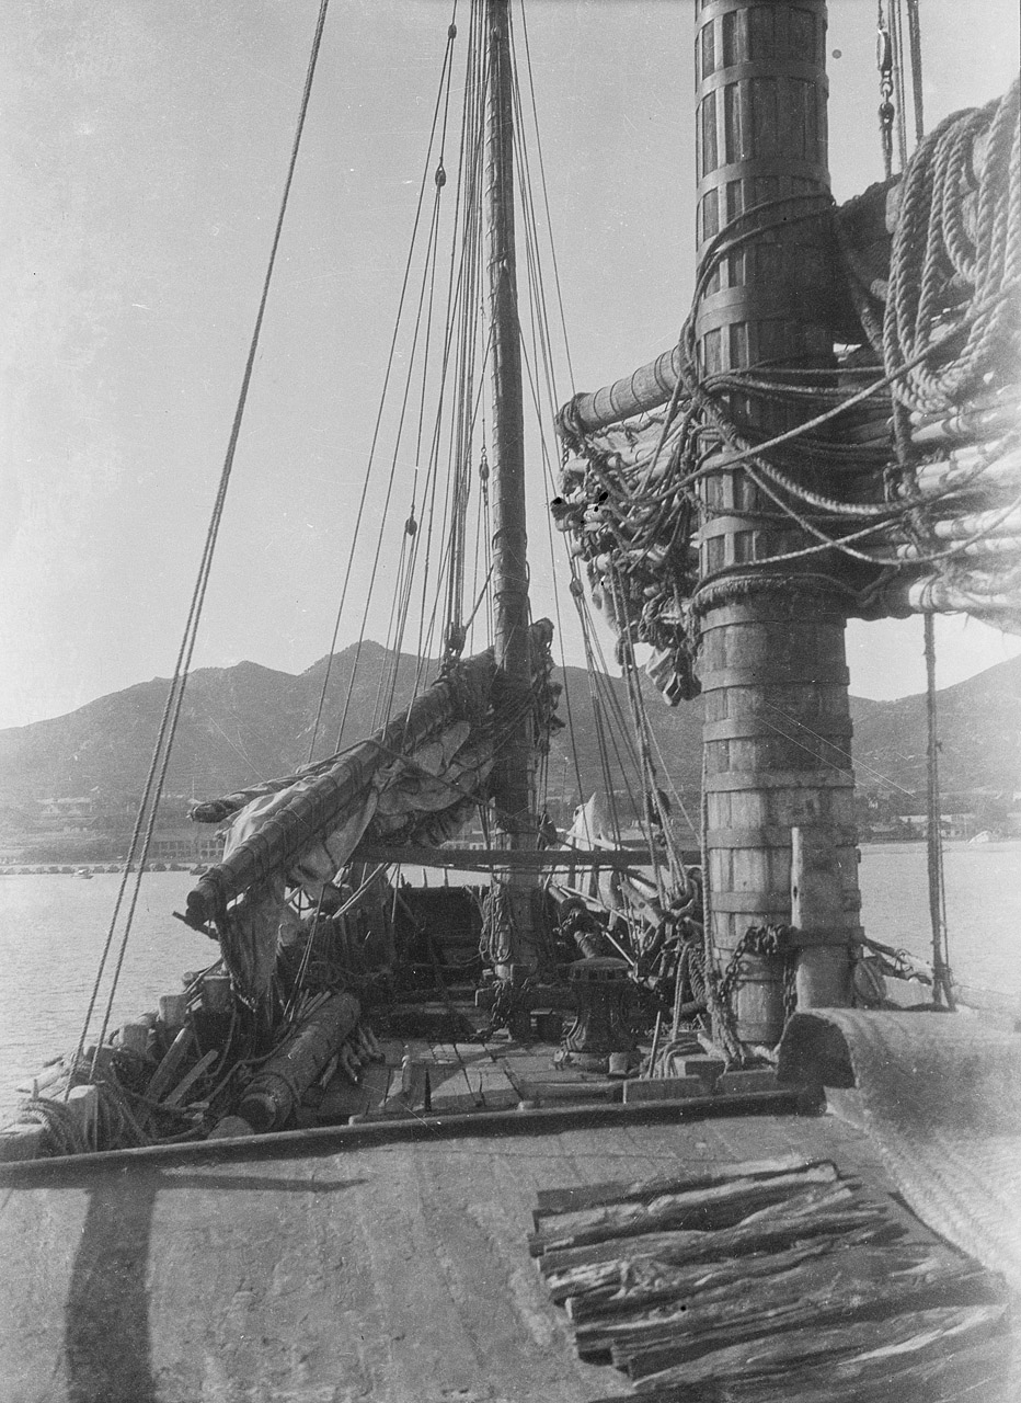
M532 1254L600 1403L996 1403L1008 1298L826 1160L712 1164L539 1195Z

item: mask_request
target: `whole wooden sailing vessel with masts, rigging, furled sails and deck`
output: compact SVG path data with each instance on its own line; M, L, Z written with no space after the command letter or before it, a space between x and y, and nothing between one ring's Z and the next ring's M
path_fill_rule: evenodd
M111 993L87 1047L97 978L80 1045L4 1138L22 1160L0 1167L4 1222L59 1219L77 1244L72 1280L50 1285L55 1268L31 1295L66 1308L63 1354L27 1312L11 1348L22 1369L42 1351L69 1397L581 1400L613 1362L659 1399L1006 1400L1017 1028L952 1012L938 847L928 1007L888 1006L905 971L860 927L843 631L854 613L1018 617L1017 86L834 209L822 0L701 0L693 311L676 347L558 414L553 513L572 599L583 568L617 631L642 847L590 801L560 843L537 784L554 633L532 619L526 556L523 382L539 398L548 349L516 272L519 230L541 267L536 206L513 202L527 86L508 0L478 0L467 29L457 175L431 147L425 187L418 313L456 191L446 316L412 318L442 369L404 386L439 389L450 418L415 438L379 725L345 737L352 683L317 758L327 668L306 763L195 807L226 847L180 918L215 958L112 1034ZM438 112L457 39L450 24ZM892 139L891 112L885 94ZM258 325L248 373L257 347ZM243 410L244 393L236 428ZM442 631L422 623L398 704L417 589L443 602ZM489 645L468 651L487 616ZM697 853L661 783L641 645L668 700L705 699ZM935 753L933 731L938 818ZM485 847L457 846L474 817ZM415 866L488 881L412 887ZM111 923L115 969L129 929L114 954ZM841 1118L806 1114L823 1107ZM87 1184L84 1223L55 1176ZM108 1348L125 1313L130 1378ZM196 1331L201 1351L177 1347Z

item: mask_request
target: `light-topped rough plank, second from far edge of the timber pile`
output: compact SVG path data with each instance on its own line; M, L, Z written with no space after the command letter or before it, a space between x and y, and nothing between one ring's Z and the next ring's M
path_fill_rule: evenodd
M770 1179L736 1179L710 1188L659 1194L651 1201L582 1208L543 1223L540 1232L530 1235L529 1247L532 1256L539 1257L562 1247L661 1232L666 1226L698 1228L703 1232L732 1228L760 1208L790 1200L811 1184L832 1184L836 1177L833 1164L818 1164L815 1169Z

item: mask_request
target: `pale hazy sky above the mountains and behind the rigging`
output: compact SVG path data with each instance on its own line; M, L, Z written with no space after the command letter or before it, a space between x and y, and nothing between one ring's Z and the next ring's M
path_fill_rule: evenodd
M0 725L173 671L317 8L0 7ZM331 3L195 666L296 672L328 648L450 8ZM693 6L532 0L527 17L575 377L596 389L687 309ZM923 0L921 18L930 125L1006 88L1015 0ZM874 21L874 0L830 3L839 199L881 177ZM543 511L536 485L540 543ZM543 551L533 568L550 612ZM1015 651L941 623L940 680ZM860 694L923 686L919 620L853 624L848 652Z

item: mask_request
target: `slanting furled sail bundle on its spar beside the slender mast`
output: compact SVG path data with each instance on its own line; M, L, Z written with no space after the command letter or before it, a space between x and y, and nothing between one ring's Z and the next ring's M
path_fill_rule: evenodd
M551 637L548 620L532 626L534 716L547 738L555 704ZM223 861L189 892L187 920L215 927L243 993L269 989L293 920L289 887L317 902L363 839L443 842L485 801L509 723L494 704L495 679L492 650L454 664L370 739L286 781L192 811L201 821L234 814Z

